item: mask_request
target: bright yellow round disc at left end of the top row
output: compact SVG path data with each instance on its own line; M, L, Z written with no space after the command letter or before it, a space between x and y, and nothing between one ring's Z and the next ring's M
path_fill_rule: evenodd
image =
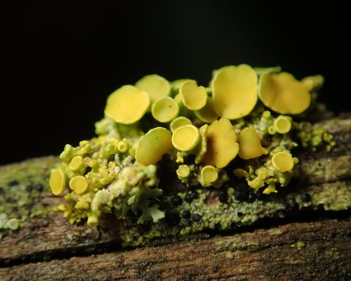
M105 115L117 123L133 124L144 116L149 105L145 91L131 85L121 86L107 98Z

